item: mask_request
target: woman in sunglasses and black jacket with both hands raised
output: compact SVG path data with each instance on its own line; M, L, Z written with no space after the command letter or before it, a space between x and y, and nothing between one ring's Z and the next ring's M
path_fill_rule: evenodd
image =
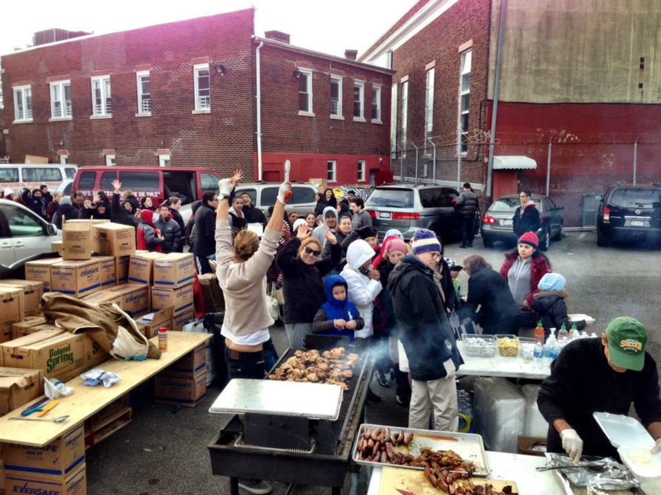
M275 258L282 271L284 327L292 349L303 349L304 337L312 333L315 314L324 303L322 278L342 259L342 246L330 229L326 228L324 238L330 244L330 254L317 261L322 246L311 236L308 225L301 225Z

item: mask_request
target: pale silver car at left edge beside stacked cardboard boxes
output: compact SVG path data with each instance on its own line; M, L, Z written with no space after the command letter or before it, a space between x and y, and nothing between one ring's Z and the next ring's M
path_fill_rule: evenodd
M52 223L15 201L0 199L0 278L52 252L52 242L61 239Z

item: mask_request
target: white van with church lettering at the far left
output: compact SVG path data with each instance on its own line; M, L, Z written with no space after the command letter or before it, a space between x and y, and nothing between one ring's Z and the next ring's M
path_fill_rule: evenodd
M64 179L73 179L78 166L70 164L0 164L0 188L20 192L45 184L54 190Z

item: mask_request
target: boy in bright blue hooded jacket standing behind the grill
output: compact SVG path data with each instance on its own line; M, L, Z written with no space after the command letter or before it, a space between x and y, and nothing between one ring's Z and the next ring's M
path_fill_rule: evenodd
M354 331L364 327L356 305L348 299L346 281L339 275L330 275L324 281L326 303L322 304L312 322L313 333L348 337L354 340Z

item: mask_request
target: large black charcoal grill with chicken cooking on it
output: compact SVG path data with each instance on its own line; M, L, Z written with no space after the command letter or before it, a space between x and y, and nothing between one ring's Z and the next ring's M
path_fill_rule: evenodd
M355 352L346 339L306 337L306 349L326 351L333 347ZM294 353L295 349L289 349L273 369ZM335 421L255 414L239 419L235 415L208 447L211 472L229 476L231 495L239 494L238 478L326 486L333 495L339 495L363 421L372 372L373 361L361 355L353 377L346 382L348 390Z

